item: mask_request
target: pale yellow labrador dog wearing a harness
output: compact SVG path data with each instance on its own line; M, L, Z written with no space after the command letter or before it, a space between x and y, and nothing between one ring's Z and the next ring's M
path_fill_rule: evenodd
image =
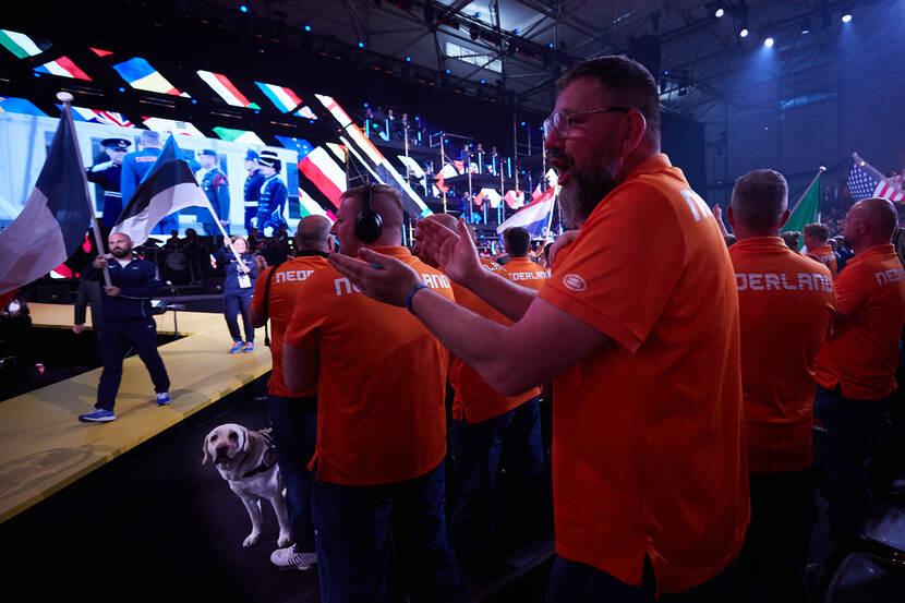
M279 546L292 542L289 531L289 514L282 496L282 478L276 455L267 438L260 432L249 431L237 423L214 427L202 445L204 459L214 459L214 467L229 483L229 489L245 505L252 520L252 532L242 542L251 546L261 535L261 499L270 502L279 522Z

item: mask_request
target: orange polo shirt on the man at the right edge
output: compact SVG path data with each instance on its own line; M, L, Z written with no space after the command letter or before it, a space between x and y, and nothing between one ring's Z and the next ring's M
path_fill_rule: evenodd
M858 253L835 285L836 310L847 319L817 357L817 382L826 389L842 385L845 398L885 398L895 389L905 324L905 270L895 248L874 245Z

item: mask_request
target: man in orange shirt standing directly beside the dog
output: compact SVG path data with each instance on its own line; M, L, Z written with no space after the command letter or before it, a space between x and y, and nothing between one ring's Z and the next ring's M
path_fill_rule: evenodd
M263 327L270 318L274 372L267 384L267 415L274 429L280 473L286 481L286 503L294 541L291 546L278 548L270 555L270 562L280 568L307 569L317 559L311 523L312 475L305 467L314 454L317 437L317 387L312 385L299 394L286 387L282 337L292 318L299 291L311 275L329 266L326 257L330 251L330 221L324 216L307 216L302 218L295 231L293 260L266 268L264 256L255 256L255 267L261 276L255 282L250 314L255 327Z

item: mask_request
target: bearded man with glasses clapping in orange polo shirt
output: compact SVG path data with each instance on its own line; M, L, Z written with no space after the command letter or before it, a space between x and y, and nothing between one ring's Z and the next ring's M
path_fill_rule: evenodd
M660 97L626 57L557 83L546 148L581 228L540 291L484 270L467 225L417 238L452 280L515 321L425 290L374 252L330 257L406 305L502 395L554 382L556 559L547 601L725 601L750 517L738 296L707 204L660 153ZM526 364L529 348L545 350Z

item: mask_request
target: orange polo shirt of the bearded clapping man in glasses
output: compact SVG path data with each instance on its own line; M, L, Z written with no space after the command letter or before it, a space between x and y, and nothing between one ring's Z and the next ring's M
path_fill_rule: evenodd
M707 204L651 157L539 296L613 339L554 381L556 553L634 586L647 556L662 593L719 575L750 502L738 296Z

